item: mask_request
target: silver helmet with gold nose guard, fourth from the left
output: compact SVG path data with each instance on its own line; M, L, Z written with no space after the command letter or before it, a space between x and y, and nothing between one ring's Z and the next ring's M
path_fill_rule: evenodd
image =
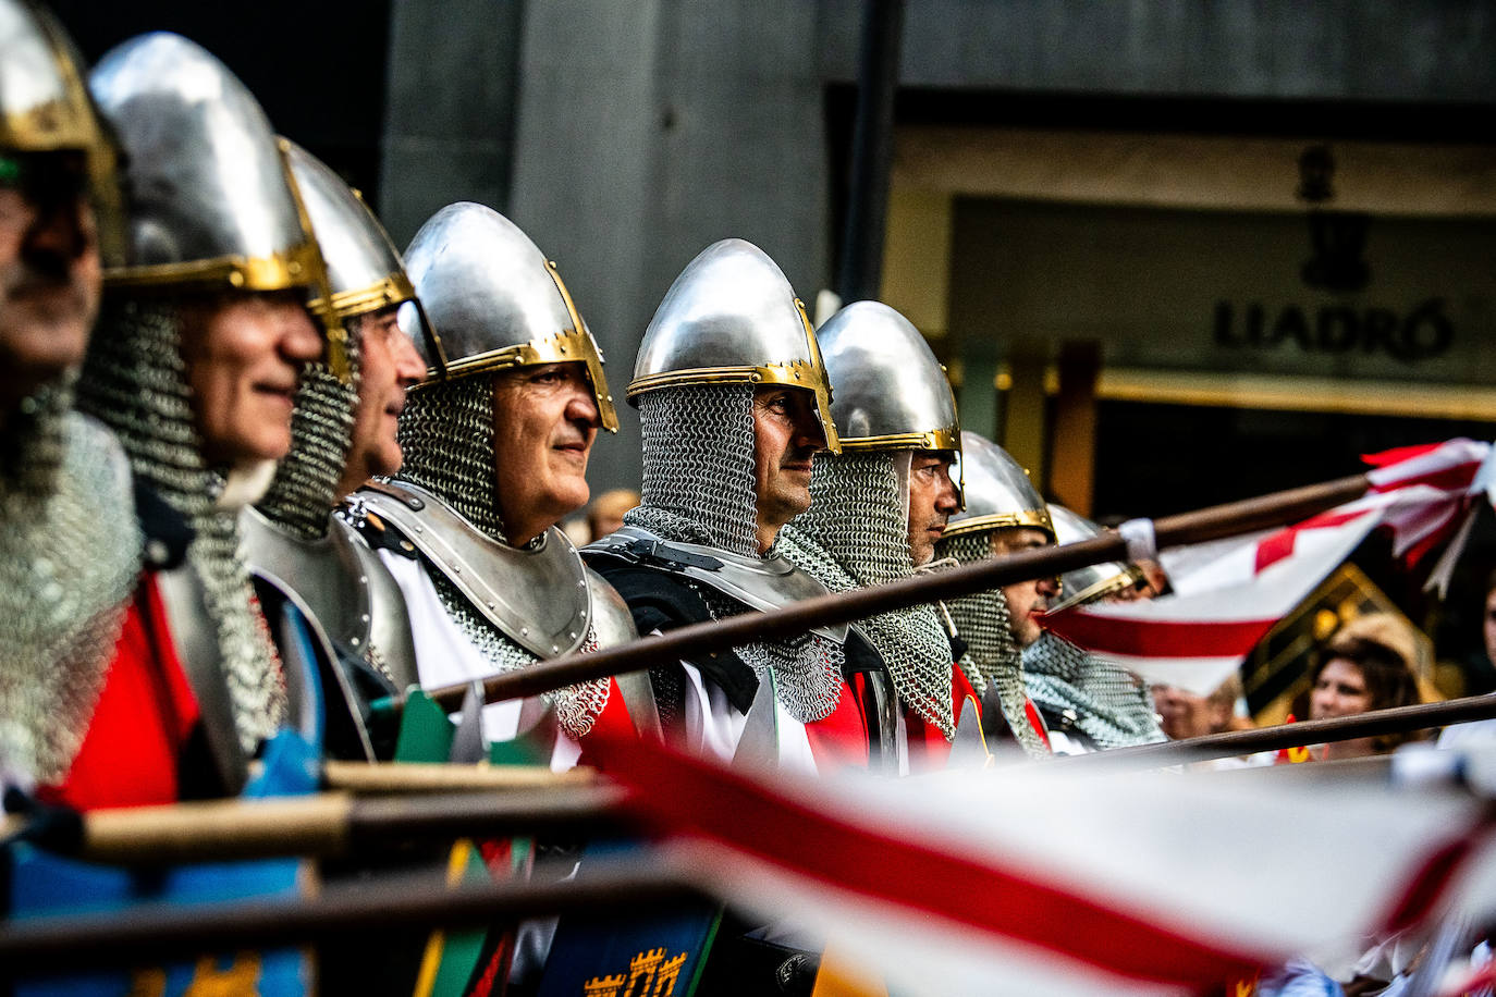
M447 205L405 248L405 272L429 318L419 335L408 330L426 362L426 384L540 363L585 363L603 429L618 432L597 341L557 265L519 226L483 205Z

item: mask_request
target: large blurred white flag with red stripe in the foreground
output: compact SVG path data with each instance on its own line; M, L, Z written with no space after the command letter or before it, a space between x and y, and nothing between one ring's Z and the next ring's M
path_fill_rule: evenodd
M631 744L609 776L658 861L920 994L1194 994L1496 909L1481 801L1364 780L751 776Z

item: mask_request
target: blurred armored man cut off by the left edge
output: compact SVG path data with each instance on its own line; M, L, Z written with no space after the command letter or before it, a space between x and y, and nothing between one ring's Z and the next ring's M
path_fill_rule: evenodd
M165 773L138 768L126 795L84 747L100 701L129 700L163 662L112 667L142 635L147 535L124 453L72 411L100 241L117 250L120 236L115 149L79 66L45 10L0 0L0 782L75 806L169 801L181 731L159 714L141 717L139 744L172 758Z

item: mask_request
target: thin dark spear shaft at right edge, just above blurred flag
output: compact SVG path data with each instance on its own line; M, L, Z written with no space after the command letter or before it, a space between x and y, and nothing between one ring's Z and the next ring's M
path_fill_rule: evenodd
M1420 703L1390 710L1370 710L1354 716L1336 716L1327 720L1305 720L1303 723L1279 723L1252 731L1225 731L1224 734L1186 737L1161 744L1115 747L1106 752L1055 761L1065 765L1088 762L1097 765L1131 765L1135 762L1140 768L1177 765L1188 761L1273 752L1282 747L1349 741L1358 737L1381 737L1382 734L1403 734L1430 726L1486 720L1493 716L1496 716L1496 695L1478 695L1465 697L1463 700L1448 700L1445 703Z

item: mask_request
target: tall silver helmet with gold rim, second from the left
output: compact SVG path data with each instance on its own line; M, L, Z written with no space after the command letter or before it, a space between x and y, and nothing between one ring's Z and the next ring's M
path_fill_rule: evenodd
M130 202L124 260L105 283L322 293L284 149L223 63L157 31L111 49L88 87L124 149Z

